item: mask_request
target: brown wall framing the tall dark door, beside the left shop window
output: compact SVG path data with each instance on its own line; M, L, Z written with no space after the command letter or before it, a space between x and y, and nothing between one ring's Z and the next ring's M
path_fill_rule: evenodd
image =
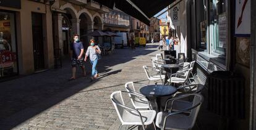
M23 0L21 1L21 9L13 9L9 7L0 7L0 9L15 11L19 74L28 75L35 72L32 12L43 15L45 68L53 68L53 37L50 7L39 2Z

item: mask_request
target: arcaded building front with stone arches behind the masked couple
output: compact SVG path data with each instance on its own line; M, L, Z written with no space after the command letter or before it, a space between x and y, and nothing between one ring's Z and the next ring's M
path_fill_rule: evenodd
M91 36L88 33L94 30L103 30L103 14L109 12L107 7L94 1L55 1L53 6L53 41L54 54L69 55L69 44L74 34L80 35L85 48ZM102 42L102 39L96 39Z

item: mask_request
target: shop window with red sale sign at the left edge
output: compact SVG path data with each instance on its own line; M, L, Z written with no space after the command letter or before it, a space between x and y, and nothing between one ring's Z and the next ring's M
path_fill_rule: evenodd
M18 73L15 38L15 15L0 11L0 79Z

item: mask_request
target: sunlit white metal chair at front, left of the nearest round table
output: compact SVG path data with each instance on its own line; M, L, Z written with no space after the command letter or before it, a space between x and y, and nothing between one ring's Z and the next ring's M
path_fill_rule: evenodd
M145 130L144 125L153 123L155 126L155 110L136 110L134 108L127 107L127 105L124 104L124 99L122 98L122 94L124 93L135 95L135 93L123 91L116 91L110 95L111 101L113 102L114 108L116 109L122 125L141 125L143 130Z

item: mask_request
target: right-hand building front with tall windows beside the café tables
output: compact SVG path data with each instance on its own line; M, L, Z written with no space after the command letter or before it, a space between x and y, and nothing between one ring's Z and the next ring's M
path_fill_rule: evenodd
M203 82L213 71L232 71L244 78L244 118L233 120L234 128L249 129L253 122L250 89L250 2L231 0L186 1L187 55L197 61ZM175 7L174 3L172 7ZM241 17L241 12L244 12ZM241 19L243 18L243 19ZM184 25L181 25L184 26ZM251 64L252 65L252 64ZM251 78L252 79L252 78ZM242 89L241 89L242 90ZM240 92L240 91L239 91ZM241 91L242 92L242 91ZM239 101L237 101L239 102Z

